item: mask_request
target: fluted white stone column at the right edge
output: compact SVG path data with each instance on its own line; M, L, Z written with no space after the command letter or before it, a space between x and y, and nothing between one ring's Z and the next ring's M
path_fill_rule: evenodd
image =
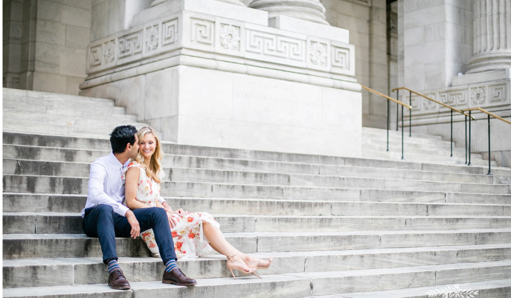
M511 67L511 0L474 0L474 56L467 73Z

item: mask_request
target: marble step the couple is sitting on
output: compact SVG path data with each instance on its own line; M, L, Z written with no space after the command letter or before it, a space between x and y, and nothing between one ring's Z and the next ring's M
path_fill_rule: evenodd
M509 243L510 229L447 231L362 231L225 233L227 241L244 253L377 249L417 246ZM150 256L140 239L117 238L119 257ZM97 238L80 234L4 234L3 259L99 258Z

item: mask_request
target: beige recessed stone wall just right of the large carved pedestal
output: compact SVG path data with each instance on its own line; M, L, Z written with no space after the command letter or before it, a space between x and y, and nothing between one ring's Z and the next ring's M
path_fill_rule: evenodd
M355 78L388 94L387 4L385 0L322 0L331 26L350 30ZM386 101L362 90L362 124L386 127Z

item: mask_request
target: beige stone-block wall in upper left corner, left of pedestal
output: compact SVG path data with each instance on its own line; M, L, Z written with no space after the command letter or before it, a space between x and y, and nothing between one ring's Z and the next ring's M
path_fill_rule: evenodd
M18 87L77 95L86 76L91 0L24 0L8 5L17 7L11 9L11 28L21 20L19 58L9 55L8 63L9 71L19 63Z

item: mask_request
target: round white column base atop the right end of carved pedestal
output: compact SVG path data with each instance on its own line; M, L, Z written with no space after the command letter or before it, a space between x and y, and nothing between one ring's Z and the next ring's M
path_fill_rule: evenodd
M294 18L330 25L319 0L254 0L249 7L268 12L268 18L286 15Z

